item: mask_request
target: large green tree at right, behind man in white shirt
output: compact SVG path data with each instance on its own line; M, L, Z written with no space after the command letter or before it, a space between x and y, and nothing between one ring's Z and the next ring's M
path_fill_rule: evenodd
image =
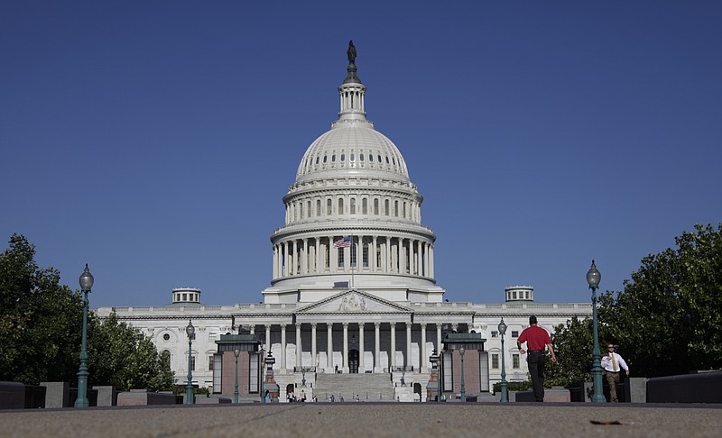
M599 319L632 372L646 377L722 368L722 224L696 225L677 249L642 260Z

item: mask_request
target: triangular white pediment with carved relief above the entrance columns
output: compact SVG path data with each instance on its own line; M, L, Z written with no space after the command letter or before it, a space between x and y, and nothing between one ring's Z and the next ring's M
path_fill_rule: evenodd
M325 298L318 303L302 307L295 312L299 314L399 314L412 313L412 309L375 297L366 292L351 289L333 297Z

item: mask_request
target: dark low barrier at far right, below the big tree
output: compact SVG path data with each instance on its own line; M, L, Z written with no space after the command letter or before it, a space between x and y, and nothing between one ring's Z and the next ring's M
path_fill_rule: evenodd
M648 403L722 403L722 371L647 380Z

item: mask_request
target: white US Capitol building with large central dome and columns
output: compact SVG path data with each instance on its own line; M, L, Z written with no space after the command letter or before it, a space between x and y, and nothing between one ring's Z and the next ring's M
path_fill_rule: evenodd
M228 345L253 335L257 344L237 358L245 399L263 393L269 352L281 401L290 393L426 401L434 351L444 397L458 397L461 358L445 351L449 333L478 333L483 342L464 354L467 394L493 391L502 357L507 380L528 379L515 337L529 315L553 333L574 315L591 315L591 305L535 303L531 286L506 287L503 303L444 300L434 279L436 235L421 224L423 197L399 149L366 119L353 42L347 58L338 120L310 144L283 197L285 221L271 235L273 278L263 303L205 306L199 288L184 287L172 290L169 305L100 307L97 315L115 311L141 329L170 355L178 385L186 384L190 362L194 385L224 395L233 394L236 379L235 348Z

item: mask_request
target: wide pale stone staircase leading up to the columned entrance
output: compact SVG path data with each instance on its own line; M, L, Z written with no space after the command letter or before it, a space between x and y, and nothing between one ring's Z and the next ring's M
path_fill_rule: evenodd
M329 401L331 394L336 401L395 401L391 374L317 374L313 394L319 401Z

